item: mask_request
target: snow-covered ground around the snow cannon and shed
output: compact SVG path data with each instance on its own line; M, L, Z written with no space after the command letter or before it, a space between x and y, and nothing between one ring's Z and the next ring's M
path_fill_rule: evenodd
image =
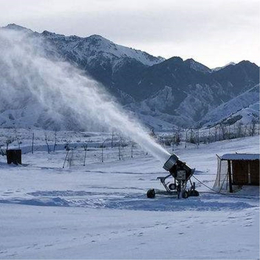
M38 132L31 153L31 134L19 133L23 165L0 157L0 259L259 259L258 187L232 195L207 188L216 154L259 153L258 136L177 147L200 181L193 179L199 197L178 200L146 198L149 188L163 188L156 178L167 172L137 146L58 132L56 151L47 153ZM68 140L77 148L64 164Z

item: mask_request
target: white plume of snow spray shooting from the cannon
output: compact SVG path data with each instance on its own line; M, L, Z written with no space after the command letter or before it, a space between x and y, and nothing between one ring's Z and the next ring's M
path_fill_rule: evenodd
M58 123L66 121L68 114L82 129L90 122L99 122L117 129L160 161L169 158L170 154L97 82L68 62L52 57L51 46L43 51L43 40L38 38L28 37L28 32L0 30L0 111L36 102Z

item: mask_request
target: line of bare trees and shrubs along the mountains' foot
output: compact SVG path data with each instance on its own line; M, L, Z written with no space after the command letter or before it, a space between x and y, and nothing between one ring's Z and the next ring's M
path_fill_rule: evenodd
M42 133L42 132L41 132ZM72 143L70 141L67 141L66 138L64 138L64 135L60 138L58 138L58 133L56 131L49 131L49 132L43 132L44 136L39 136L37 134L37 138L35 136L35 133L33 131L30 131L27 135L27 144L28 144L28 138L31 136L31 153L34 153L36 149L38 149L38 145L35 145L35 139L37 141L45 141L46 146L44 146L46 151L48 153L55 152L57 149L57 146L59 144L59 149L65 149L66 156L64 159L64 166L67 162L69 165L71 165L71 161L73 161L73 151L74 150L82 150L84 152L83 156L83 165L86 163L87 158L87 151L89 151L90 148L98 148L100 151L100 161L104 162L105 158L105 151L109 148L116 148L118 149L118 159L122 160L124 158L124 147L130 147L127 152L127 157L133 158L134 157L134 147L135 143L131 142L129 140L124 140L120 135L118 135L115 131L112 131L111 135L107 136L107 138L104 138L103 140L93 141L90 137L84 136L82 139L77 140L78 145L75 145L75 143ZM181 142L184 143L185 148L188 143L196 144L199 146L201 143L207 144L212 142L217 142L221 140L228 140L228 139L234 139L234 138L241 138L241 137L247 137L247 136L255 136L259 135L260 129L259 129L259 123L252 121L250 124L242 124L237 123L233 125L224 125L219 124L214 127L209 128L188 128L188 129L177 129L174 130L171 134L166 135L160 135L156 136L154 131L151 133L151 135L155 138L157 138L158 142L165 146L178 146ZM6 137L5 141L3 142L3 139L0 142L0 153L3 155L4 150L8 150L10 145L14 145L15 147L18 147L20 149L20 145L22 144L22 135L18 133L16 129L9 132L9 137ZM62 145L63 144L63 145ZM79 149L80 148L80 149ZM115 150L114 150L115 151ZM28 152L28 151L27 151ZM64 167L63 166L63 167Z

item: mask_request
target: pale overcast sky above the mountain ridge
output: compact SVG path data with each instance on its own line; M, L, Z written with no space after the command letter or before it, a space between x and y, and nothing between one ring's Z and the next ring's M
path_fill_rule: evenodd
M214 68L260 65L259 0L0 0L0 26L99 34L155 56Z

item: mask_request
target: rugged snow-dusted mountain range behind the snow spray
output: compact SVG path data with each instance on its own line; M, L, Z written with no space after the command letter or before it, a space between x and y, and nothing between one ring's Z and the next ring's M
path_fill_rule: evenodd
M99 35L82 38L48 31L38 33L15 24L2 30L24 31L28 38L40 39L48 58L62 59L78 67L100 82L127 110L157 129L225 120L250 104L248 91L259 84L259 67L249 61L211 70L193 59L184 61L172 57L165 60L115 44ZM249 103L239 106L234 100L241 96ZM257 99L257 95L254 98ZM6 104L5 100L1 101ZM57 124L62 128L73 125L68 124L74 122L73 118L55 122L41 105L23 100L20 103L16 107L0 107L0 125L15 123L48 128L56 128ZM32 117L29 111L34 107L37 109ZM259 112L254 114L259 120Z

